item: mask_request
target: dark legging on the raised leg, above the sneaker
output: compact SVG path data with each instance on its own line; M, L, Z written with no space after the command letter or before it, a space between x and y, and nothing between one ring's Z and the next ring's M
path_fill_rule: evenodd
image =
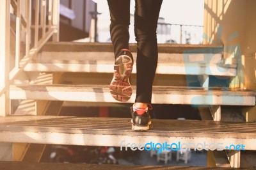
M115 58L121 49L129 49L130 0L108 0L110 36Z

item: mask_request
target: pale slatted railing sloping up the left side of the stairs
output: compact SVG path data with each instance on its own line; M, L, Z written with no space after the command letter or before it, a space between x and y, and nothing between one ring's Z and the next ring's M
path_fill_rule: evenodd
M0 1L0 116L10 112L9 85L50 38L58 41L59 6L60 0Z

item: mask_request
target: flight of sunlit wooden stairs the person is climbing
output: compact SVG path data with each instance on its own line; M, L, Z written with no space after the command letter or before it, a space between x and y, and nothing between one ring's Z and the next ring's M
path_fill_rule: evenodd
M136 61L136 45L131 44ZM237 75L237 63L223 59L223 47L212 45L159 45L157 75L170 75L170 86L153 88L153 104L180 104L210 107L214 120L152 120L147 132L131 130L127 118L77 118L65 116L7 116L0 118L0 142L117 146L125 143L223 143L223 147L245 146L256 150L256 123L225 122L221 105L255 105L255 91L211 87L211 76L228 79ZM109 43L47 43L25 66L24 71L74 72L113 75L113 47ZM136 72L136 63L133 73ZM193 75L200 87L173 86L172 76ZM132 75L133 76L133 75ZM97 78L97 77L95 77ZM188 77L187 77L188 78ZM84 77L86 79L86 77ZM111 79L109 79L109 82ZM166 81L166 80L165 80ZM193 80L195 81L195 80ZM133 82L133 81L132 81ZM136 87L127 103L133 103ZM108 84L12 84L12 100L118 103L109 94ZM214 109L212 109L214 108ZM217 109L216 109L217 108ZM171 111L170 111L171 112ZM54 114L52 114L54 115ZM215 116L215 117L214 117ZM218 117L217 116L217 117ZM191 146L193 148L193 146ZM231 147L231 150L234 148Z

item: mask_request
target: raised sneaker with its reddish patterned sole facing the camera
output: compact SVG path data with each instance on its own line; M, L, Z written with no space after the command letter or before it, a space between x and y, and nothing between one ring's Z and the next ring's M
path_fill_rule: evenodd
M114 76L110 83L110 93L115 100L126 102L131 98L132 88L129 78L132 73L133 58L130 50L122 49L115 60Z

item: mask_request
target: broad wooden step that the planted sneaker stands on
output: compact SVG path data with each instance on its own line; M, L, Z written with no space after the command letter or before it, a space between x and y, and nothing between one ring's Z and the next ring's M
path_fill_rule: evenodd
M153 119L150 130L138 132L131 130L130 118L7 116L0 117L0 142L116 147L122 144L124 150L128 143L180 142L180 146L185 143L199 149L204 143L212 143L212 148L228 146L234 150L234 146L243 144L245 150L256 150L256 123Z

